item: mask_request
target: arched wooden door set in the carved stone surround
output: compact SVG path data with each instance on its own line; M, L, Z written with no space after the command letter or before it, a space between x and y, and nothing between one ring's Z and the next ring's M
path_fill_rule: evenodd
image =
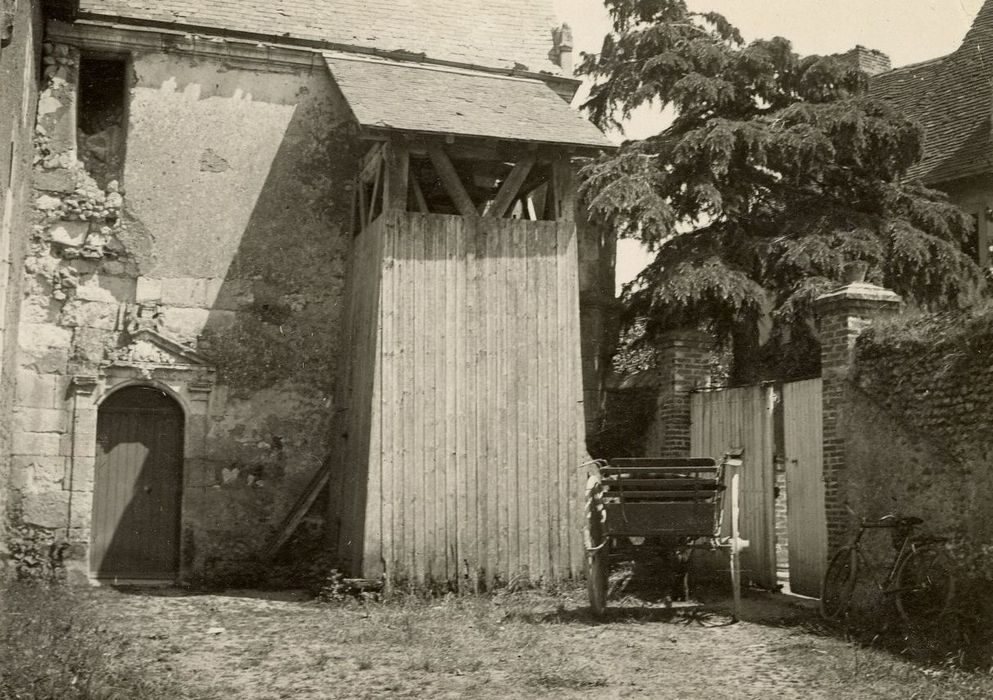
M98 579L172 580L179 572L183 410L127 387L100 406L90 570Z

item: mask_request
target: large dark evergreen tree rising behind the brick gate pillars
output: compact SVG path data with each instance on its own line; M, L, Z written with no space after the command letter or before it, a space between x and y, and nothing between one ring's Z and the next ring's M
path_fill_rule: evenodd
M973 222L946 197L903 178L922 131L866 94L835 56L797 55L781 37L746 44L684 0L606 0L613 31L580 72L602 127L643 106L672 124L589 162L582 194L654 261L625 290L642 341L706 325L734 339L733 381L816 372L811 302L848 263L867 281L929 310L975 298L983 275L963 252ZM771 310L763 362L757 326Z

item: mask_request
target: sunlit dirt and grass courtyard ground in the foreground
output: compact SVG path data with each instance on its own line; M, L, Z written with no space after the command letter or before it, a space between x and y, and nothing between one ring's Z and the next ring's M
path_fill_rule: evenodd
M993 681L826 634L813 601L626 605L582 592L320 604L300 594L101 589L142 673L191 698L949 698ZM990 681L987 683L987 681ZM987 694L989 691L989 694Z

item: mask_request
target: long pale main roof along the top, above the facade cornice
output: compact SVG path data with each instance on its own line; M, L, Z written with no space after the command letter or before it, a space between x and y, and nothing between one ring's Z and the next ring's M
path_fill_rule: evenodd
M551 0L80 0L84 18L124 18L424 53L559 73Z

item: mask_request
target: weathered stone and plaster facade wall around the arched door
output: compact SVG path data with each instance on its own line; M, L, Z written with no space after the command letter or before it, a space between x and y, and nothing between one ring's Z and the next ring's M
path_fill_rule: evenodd
M347 108L309 56L96 38L56 25L45 44L34 211L19 232L14 513L67 537L85 572L98 404L160 386L187 412L182 573L222 577L328 455L356 167ZM91 46L128 60L119 181L80 161L94 162L76 122Z

